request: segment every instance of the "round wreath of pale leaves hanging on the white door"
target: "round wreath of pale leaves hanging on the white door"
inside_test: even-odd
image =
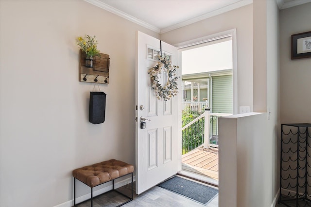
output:
[[[173,66],[165,55],[164,57],[158,55],[158,59],[158,64],[149,69],[148,74],[150,74],[152,88],[155,91],[157,99],[164,99],[164,101],[167,101],[178,93],[176,66]],[[162,71],[168,74],[168,80],[164,86],[162,86],[159,80]]]

